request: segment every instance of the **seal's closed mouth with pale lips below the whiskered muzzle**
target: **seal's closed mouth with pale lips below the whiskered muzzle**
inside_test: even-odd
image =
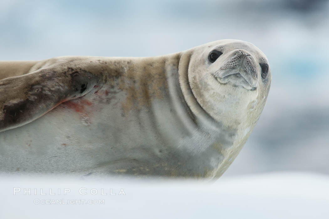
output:
[[[235,87],[241,86],[244,89],[253,91],[257,89],[257,86],[254,84],[254,81],[251,78],[246,78],[240,73],[229,74],[224,77],[215,76],[215,79],[221,84],[232,84]]]

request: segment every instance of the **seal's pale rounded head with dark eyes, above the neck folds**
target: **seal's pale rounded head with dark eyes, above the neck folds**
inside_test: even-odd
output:
[[[248,42],[218,40],[188,53],[187,81],[201,108],[226,126],[252,130],[271,83],[263,52]]]

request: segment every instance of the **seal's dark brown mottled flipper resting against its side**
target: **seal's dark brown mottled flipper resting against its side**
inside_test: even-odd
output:
[[[99,78],[61,63],[0,80],[0,132],[27,124],[64,101],[84,96]]]

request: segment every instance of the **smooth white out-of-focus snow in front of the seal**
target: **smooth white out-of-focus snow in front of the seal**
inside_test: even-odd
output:
[[[213,183],[1,175],[0,185],[0,218],[329,218],[329,177],[311,173],[226,177]],[[14,195],[14,188],[21,191]],[[31,188],[31,195],[24,195],[24,188]],[[64,195],[64,189],[70,192]],[[110,195],[110,189],[116,195]],[[118,194],[121,189],[125,195]],[[38,200],[104,200],[104,204]]]

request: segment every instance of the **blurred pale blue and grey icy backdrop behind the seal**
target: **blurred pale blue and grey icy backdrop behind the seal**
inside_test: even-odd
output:
[[[225,176],[329,174],[325,0],[0,0],[0,60],[156,56],[218,39],[259,47],[272,71],[263,114]]]

